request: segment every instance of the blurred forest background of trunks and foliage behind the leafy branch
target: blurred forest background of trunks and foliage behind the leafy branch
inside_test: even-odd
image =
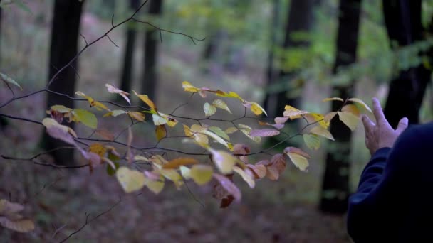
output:
[[[188,80],[197,87],[233,90],[263,104],[271,118],[281,116],[285,104],[326,114],[336,105],[321,102],[326,97],[358,97],[368,104],[378,97],[393,124],[402,115],[415,123],[431,121],[433,89],[427,83],[433,1],[385,2],[387,6],[376,0],[150,0],[138,19],[204,41],[127,23],[110,33],[111,41],[103,38],[80,55],[75,70],[63,72],[52,88],[109,100],[104,84],[110,83],[147,94],[160,110],[169,111],[187,101],[182,81]],[[77,45],[80,50],[85,39],[95,40],[141,3],[0,1],[0,72],[21,84],[20,94],[39,90],[75,56]],[[10,97],[6,85],[0,85],[0,104]],[[74,106],[71,99],[48,95],[52,104]],[[191,111],[202,112],[202,103],[194,99],[190,105],[181,114],[199,117]],[[75,104],[80,106],[85,104]],[[41,93],[1,107],[0,113],[41,121],[46,107],[46,93]],[[1,155],[28,158],[40,151],[41,126],[0,118]],[[285,129],[290,134],[300,127]],[[150,131],[135,126],[135,134],[142,134],[136,142],[151,143]],[[124,195],[105,170],[89,176],[86,169],[59,170],[0,158],[0,198],[26,205],[36,222],[29,234],[0,228],[0,242],[57,242],[83,225],[86,212],[98,215],[119,195],[121,205],[71,240],[350,242],[347,198],[370,155],[362,127],[350,133],[331,126],[331,132],[336,142],[310,151],[307,173],[290,168],[278,181],[261,181],[254,190],[241,185],[242,202],[226,209],[212,198],[212,185],[179,191],[167,187],[160,195],[143,190],[135,197]],[[263,146],[277,142],[268,139]],[[288,144],[303,146],[302,139]]]

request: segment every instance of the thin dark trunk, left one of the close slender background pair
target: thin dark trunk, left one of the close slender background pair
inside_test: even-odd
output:
[[[130,0],[130,9],[135,11],[140,6],[140,0]],[[134,48],[135,38],[137,36],[137,30],[133,26],[128,26],[126,31],[126,48],[123,59],[122,77],[120,77],[120,90],[130,92],[132,83],[133,73],[133,59],[134,59]]]

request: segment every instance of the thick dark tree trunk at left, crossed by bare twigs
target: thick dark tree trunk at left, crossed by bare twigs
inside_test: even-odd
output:
[[[51,48],[49,63],[49,80],[77,55],[80,17],[84,1],[56,0],[54,2],[53,26],[51,30]],[[49,90],[73,96],[75,91],[76,72],[78,63],[75,61],[70,67],[63,70],[54,80]],[[74,106],[73,100],[60,95],[48,93],[47,107],[54,104],[63,104],[66,107]],[[73,124],[68,124],[73,126]],[[45,134],[43,146],[47,150],[67,146],[63,142],[52,139]],[[73,151],[61,149],[53,153],[56,163],[73,163]]]

